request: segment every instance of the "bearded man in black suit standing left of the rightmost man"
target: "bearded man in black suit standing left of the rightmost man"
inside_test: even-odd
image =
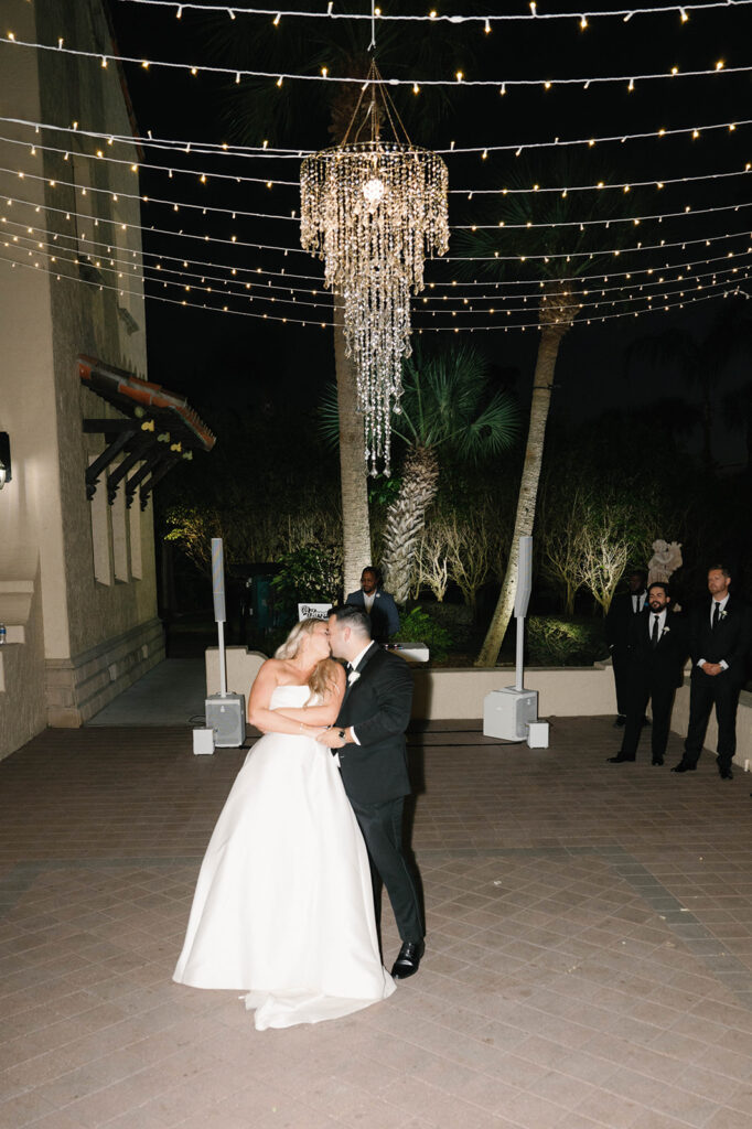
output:
[[[663,764],[676,686],[687,658],[687,631],[681,615],[671,612],[668,586],[656,580],[647,604],[629,623],[627,725],[624,739],[611,764],[635,761],[648,700],[653,703],[653,763]]]

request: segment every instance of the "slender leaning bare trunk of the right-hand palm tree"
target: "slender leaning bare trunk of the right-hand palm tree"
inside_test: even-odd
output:
[[[535,523],[535,504],[537,501],[537,483],[541,476],[541,464],[543,462],[543,445],[545,440],[545,425],[549,418],[549,406],[551,403],[551,387],[553,385],[553,370],[559,355],[561,339],[571,325],[570,314],[562,308],[559,317],[553,318],[552,312],[556,298],[560,298],[561,306],[571,301],[571,296],[556,294],[546,296],[541,303],[541,321],[545,318],[541,330],[541,340],[537,347],[537,359],[535,361],[535,375],[533,377],[533,401],[530,412],[530,430],[527,432],[527,447],[525,448],[525,463],[523,465],[522,481],[519,483],[519,495],[517,498],[517,514],[515,516],[515,530],[509,546],[509,559],[507,571],[501,585],[499,599],[491,618],[483,646],[475,659],[475,666],[496,666],[501,650],[501,644],[511,619],[517,594],[517,562],[519,559],[519,539],[527,537],[533,532]],[[543,303],[546,301],[546,306]],[[565,317],[561,315],[566,314]]]

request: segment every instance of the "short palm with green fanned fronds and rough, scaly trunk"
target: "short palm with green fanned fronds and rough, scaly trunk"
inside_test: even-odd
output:
[[[518,410],[508,393],[493,392],[486,358],[470,345],[425,356],[416,350],[403,362],[401,411],[392,435],[406,450],[396,496],[386,510],[382,569],[399,604],[410,594],[426,513],[439,485],[440,454],[464,461],[507,449],[518,431]],[[322,403],[323,431],[330,443],[340,434],[334,390]]]

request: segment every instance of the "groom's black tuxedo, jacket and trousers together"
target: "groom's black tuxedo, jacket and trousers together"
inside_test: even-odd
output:
[[[352,727],[359,744],[339,750],[342,782],[360,824],[374,877],[378,918],[386,886],[402,940],[418,942],[423,922],[416,884],[402,852],[402,809],[410,793],[404,733],[412,706],[412,674],[403,658],[371,644],[348,682],[336,725]]]

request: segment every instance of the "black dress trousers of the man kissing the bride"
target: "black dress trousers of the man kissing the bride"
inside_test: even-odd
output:
[[[376,921],[381,921],[382,883],[390,895],[402,940],[422,940],[426,933],[418,891],[402,851],[404,798],[384,804],[357,804],[350,799],[368,848]]]

